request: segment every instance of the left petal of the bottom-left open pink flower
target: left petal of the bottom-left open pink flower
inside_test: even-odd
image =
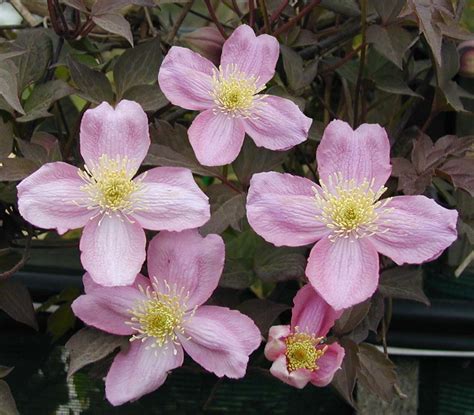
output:
[[[107,333],[130,335],[135,333],[130,325],[129,310],[146,299],[135,287],[103,287],[88,290],[72,303],[72,311],[84,323]]]

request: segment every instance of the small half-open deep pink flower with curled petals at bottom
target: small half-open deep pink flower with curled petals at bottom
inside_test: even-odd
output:
[[[308,382],[326,386],[345,355],[338,343],[324,344],[329,329],[342,312],[329,306],[311,285],[301,288],[293,301],[291,324],[273,326],[268,333],[265,356],[274,362],[270,372],[299,389]]]

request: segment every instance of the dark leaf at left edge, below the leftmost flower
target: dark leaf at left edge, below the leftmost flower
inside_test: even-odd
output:
[[[0,281],[0,309],[12,319],[38,330],[30,293],[20,283],[12,280]]]

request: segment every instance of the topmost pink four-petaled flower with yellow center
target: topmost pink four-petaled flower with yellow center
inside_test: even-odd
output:
[[[287,150],[306,140],[312,120],[290,100],[261,95],[280,53],[276,38],[255,36],[241,25],[222,48],[221,64],[173,46],[158,81],[174,105],[202,111],[188,130],[199,162],[219,166],[235,160],[245,133],[259,147]]]

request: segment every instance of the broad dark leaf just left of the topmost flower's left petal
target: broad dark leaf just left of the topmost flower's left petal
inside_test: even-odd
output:
[[[133,86],[156,83],[162,59],[158,38],[127,49],[114,66],[117,100]]]

